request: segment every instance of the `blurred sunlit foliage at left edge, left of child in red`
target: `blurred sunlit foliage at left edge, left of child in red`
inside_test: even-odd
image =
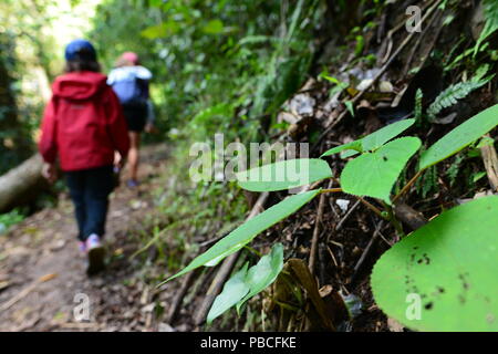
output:
[[[0,2],[0,174],[34,152],[49,83],[62,72],[61,42],[72,32],[59,31],[69,9],[70,0]]]

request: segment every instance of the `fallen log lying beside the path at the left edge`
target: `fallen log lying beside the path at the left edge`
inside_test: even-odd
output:
[[[43,160],[39,154],[0,176],[0,212],[31,201],[45,184],[41,175]]]

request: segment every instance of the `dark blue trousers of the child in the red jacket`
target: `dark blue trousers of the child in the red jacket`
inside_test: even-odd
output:
[[[65,173],[71,199],[74,204],[81,241],[96,233],[105,233],[108,195],[114,188],[113,166]]]

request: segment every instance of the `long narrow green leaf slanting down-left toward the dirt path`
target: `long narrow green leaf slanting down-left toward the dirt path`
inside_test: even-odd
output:
[[[177,274],[168,278],[166,281],[180,277],[196,268],[206,266],[208,263],[209,266],[215,266],[227,256],[237,252],[247,243],[252,241],[252,239],[261,231],[264,231],[269,227],[298,211],[303,205],[317,197],[320,194],[320,190],[321,189],[310,190],[291,196],[272,206],[268,210],[264,210],[255,218],[246,221],[229,235],[227,235],[225,238],[215,243],[206,252],[195,258],[185,269],[183,269]]]

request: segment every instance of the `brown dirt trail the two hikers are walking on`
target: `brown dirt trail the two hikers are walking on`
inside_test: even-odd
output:
[[[73,206],[66,194],[58,207],[43,209],[0,237],[0,331],[173,331],[155,323],[149,272],[137,258],[144,220],[156,212],[153,191],[160,187],[168,148],[143,149],[138,189],[125,186],[111,196],[105,272],[87,278],[77,249]],[[123,178],[122,178],[123,179]],[[156,268],[155,271],[152,268]],[[163,301],[173,292],[163,292]],[[87,321],[75,321],[82,301],[90,301]],[[175,329],[177,331],[186,329]]]

